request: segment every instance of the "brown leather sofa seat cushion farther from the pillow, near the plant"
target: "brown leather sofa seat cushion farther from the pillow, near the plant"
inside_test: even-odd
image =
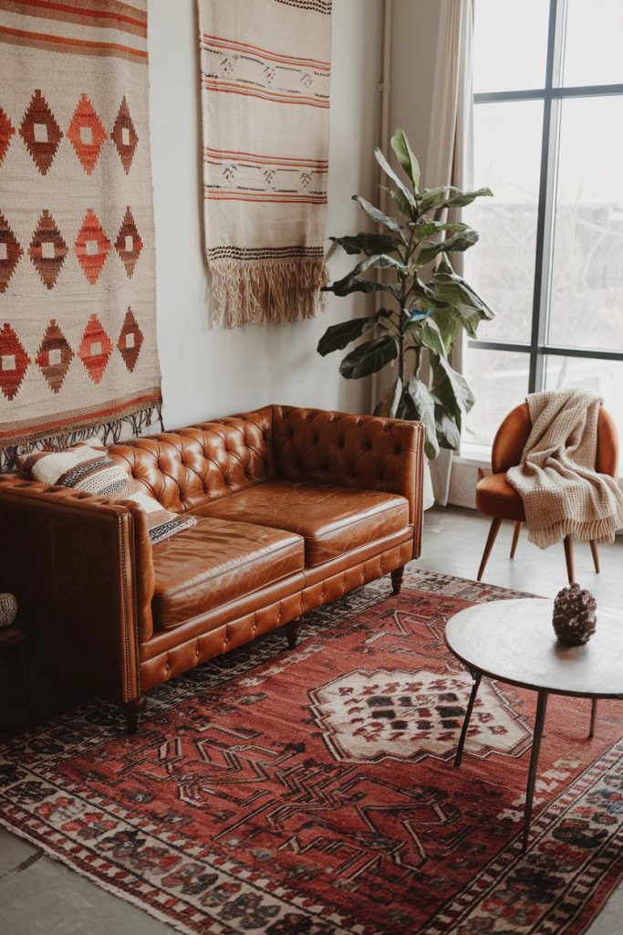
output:
[[[297,533],[304,537],[307,568],[409,525],[404,496],[315,482],[268,481],[212,500],[193,514]]]

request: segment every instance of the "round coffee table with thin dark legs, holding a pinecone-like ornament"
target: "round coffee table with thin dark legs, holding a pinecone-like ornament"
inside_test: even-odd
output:
[[[623,698],[623,616],[597,610],[597,630],[584,646],[562,646],[552,628],[553,601],[495,600],[455,614],[446,625],[446,645],[470,670],[474,685],[465,712],[455,767],[460,766],[467,730],[483,675],[538,692],[532,737],[523,849],[528,846],[536,769],[549,695],[592,698],[592,737],[598,698]]]

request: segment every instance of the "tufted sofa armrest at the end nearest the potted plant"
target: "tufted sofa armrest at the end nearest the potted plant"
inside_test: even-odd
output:
[[[424,427],[347,412],[274,406],[276,473],[289,481],[333,483],[401,494],[409,502],[414,555],[422,530]]]

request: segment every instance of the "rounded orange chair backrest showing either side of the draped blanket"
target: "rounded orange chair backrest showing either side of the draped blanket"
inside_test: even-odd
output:
[[[491,449],[491,468],[494,474],[505,474],[521,461],[531,433],[528,404],[522,403],[508,413],[498,429]],[[597,459],[595,469],[600,474],[618,476],[618,435],[616,424],[609,412],[600,407],[597,423]]]

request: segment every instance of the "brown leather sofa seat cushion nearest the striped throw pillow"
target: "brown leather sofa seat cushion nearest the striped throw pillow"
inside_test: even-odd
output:
[[[273,584],[304,566],[304,540],[261,525],[197,518],[197,525],[153,548],[155,629]]]

